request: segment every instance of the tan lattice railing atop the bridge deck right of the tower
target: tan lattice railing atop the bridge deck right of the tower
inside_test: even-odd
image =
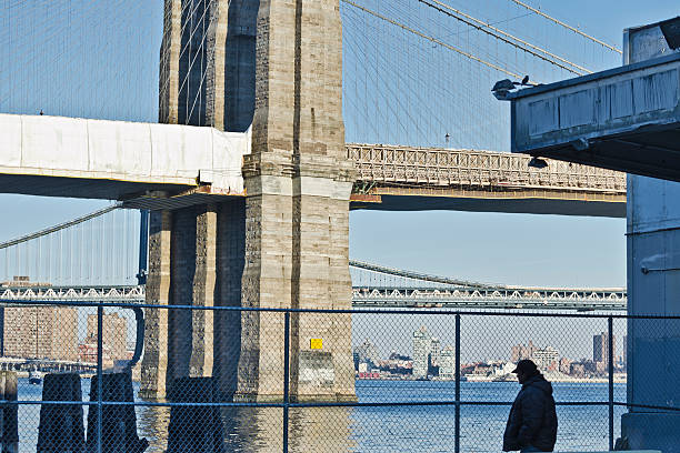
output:
[[[528,155],[357,143],[348,143],[347,153],[363,182],[626,195],[626,173],[554,160],[539,170],[528,165]]]

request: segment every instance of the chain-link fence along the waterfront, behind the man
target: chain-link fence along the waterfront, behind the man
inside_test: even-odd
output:
[[[36,301],[0,312],[3,452],[496,452],[521,359],[552,384],[556,451],[612,450],[631,406],[628,332],[680,325]]]

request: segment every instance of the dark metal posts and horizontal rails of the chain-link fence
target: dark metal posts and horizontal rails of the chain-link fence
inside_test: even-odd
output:
[[[281,432],[282,439],[282,451],[288,453],[289,451],[289,419],[290,410],[297,407],[409,407],[409,406],[451,406],[454,410],[454,449],[453,451],[459,453],[461,451],[460,439],[461,439],[461,414],[460,410],[462,406],[508,406],[512,404],[511,401],[469,401],[461,397],[461,324],[463,320],[471,319],[473,316],[483,318],[512,318],[512,319],[539,319],[539,318],[564,318],[570,319],[570,325],[577,320],[602,320],[607,321],[607,333],[608,333],[608,400],[607,401],[557,401],[558,406],[607,406],[609,410],[608,415],[608,437],[609,437],[609,450],[613,450],[614,443],[614,407],[647,407],[663,411],[680,411],[679,407],[674,406],[658,406],[658,405],[646,405],[634,404],[614,400],[614,386],[613,386],[613,363],[614,363],[614,351],[613,351],[613,321],[614,320],[650,320],[650,321],[678,321],[680,316],[638,316],[638,315],[624,315],[624,314],[554,314],[554,313],[536,313],[536,312],[521,312],[521,313],[497,313],[486,311],[470,311],[460,312],[452,310],[436,310],[428,312],[428,315],[447,316],[453,318],[454,321],[454,354],[456,354],[456,372],[454,372],[454,399],[453,400],[440,400],[440,401],[394,401],[394,402],[297,402],[290,397],[290,373],[291,368],[291,318],[299,316],[302,314],[311,314],[314,316],[319,315],[337,315],[337,314],[350,314],[350,315],[388,315],[388,316],[404,316],[404,315],[422,315],[422,311],[418,310],[327,310],[327,309],[274,309],[274,308],[243,308],[243,306],[194,306],[194,305],[157,305],[157,304],[130,304],[130,303],[104,303],[104,302],[79,302],[79,301],[43,301],[43,300],[24,300],[24,301],[11,301],[0,300],[2,303],[12,303],[19,305],[58,305],[58,306],[73,306],[73,308],[96,308],[98,313],[98,332],[97,332],[97,376],[99,383],[98,400],[97,401],[37,401],[37,400],[20,400],[20,401],[8,401],[1,400],[0,407],[8,405],[68,405],[78,404],[83,406],[90,406],[92,410],[97,410],[99,414],[98,430],[97,433],[99,439],[97,440],[97,451],[101,452],[101,415],[102,409],[106,406],[121,406],[121,405],[133,405],[136,407],[178,407],[178,406],[218,406],[218,407],[278,407],[282,410],[283,416],[283,429]],[[102,318],[104,309],[153,309],[153,310],[200,310],[200,311],[216,311],[216,312],[240,312],[240,313],[272,313],[283,315],[283,336],[282,336],[282,349],[283,349],[283,396],[281,401],[273,402],[238,402],[238,401],[224,401],[224,402],[200,402],[200,403],[186,403],[186,402],[156,402],[156,401],[141,401],[137,400],[133,402],[120,402],[120,401],[106,401],[102,400]],[[280,324],[277,323],[279,326]],[[138,340],[141,339],[138,336]],[[139,348],[139,345],[138,345]]]

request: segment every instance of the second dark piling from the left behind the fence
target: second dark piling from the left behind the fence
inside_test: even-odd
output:
[[[74,401],[76,404],[40,406],[38,453],[81,453],[84,445],[82,390],[78,374],[47,374],[42,384],[42,401]]]

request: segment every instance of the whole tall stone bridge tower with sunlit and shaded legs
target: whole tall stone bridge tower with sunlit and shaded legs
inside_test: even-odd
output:
[[[339,0],[166,0],[160,121],[246,131],[247,197],[151,215],[147,302],[349,309]],[[148,310],[142,391],[280,400],[283,315]],[[348,314],[291,315],[291,396],[354,399]],[[311,349],[322,339],[322,349]]]

